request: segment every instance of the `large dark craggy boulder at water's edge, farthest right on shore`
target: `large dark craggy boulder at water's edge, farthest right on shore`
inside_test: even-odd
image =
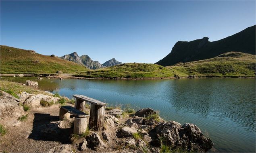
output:
[[[151,131],[157,135],[159,142],[188,152],[206,152],[212,148],[210,138],[204,137],[200,129],[191,123],[183,126],[175,121],[160,122]]]

